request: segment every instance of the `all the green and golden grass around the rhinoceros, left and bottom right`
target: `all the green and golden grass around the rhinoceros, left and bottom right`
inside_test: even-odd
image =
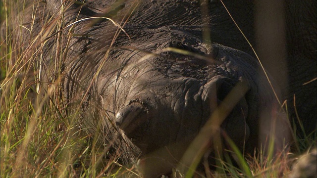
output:
[[[32,12],[31,19],[36,19],[41,13],[36,7],[38,4],[34,2],[33,5],[36,11]],[[53,77],[50,84],[39,83],[40,73],[43,72],[41,69],[35,70],[41,62],[39,51],[54,36],[59,19],[41,17],[42,23],[47,24],[43,30],[45,33],[40,33],[42,36],[36,36],[30,45],[26,45],[21,40],[21,29],[28,28],[32,32],[29,28],[32,25],[27,27],[22,22],[22,17],[29,13],[24,9],[24,3],[1,0],[0,8],[1,24],[6,22],[4,27],[1,26],[0,41],[0,177],[141,176],[138,164],[125,167],[115,158],[105,161],[107,150],[97,147],[92,136],[77,132],[74,122],[76,115],[66,113],[66,101],[59,97],[58,77]],[[20,15],[24,15],[16,16],[16,9],[19,9]],[[58,38],[66,37],[57,34]],[[62,52],[63,44],[59,42],[56,41],[56,51]],[[60,60],[55,58],[55,64]],[[56,65],[56,76],[60,67]],[[51,87],[46,90],[44,85]],[[267,150],[260,150],[253,157],[244,157],[230,138],[227,141],[235,148],[238,166],[233,166],[229,155],[224,155],[222,159],[216,158],[217,172],[207,169],[210,171],[208,177],[287,177],[296,156],[308,147],[316,147],[316,132],[298,138],[296,153],[285,149],[271,157],[264,156]],[[201,157],[204,160],[204,155]],[[174,174],[199,177],[199,173],[190,171],[183,175],[174,170]]]

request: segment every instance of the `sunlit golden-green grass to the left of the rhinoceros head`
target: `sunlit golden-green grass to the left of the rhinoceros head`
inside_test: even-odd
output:
[[[23,2],[1,0],[0,177],[116,177],[122,174],[129,177],[137,174],[119,165],[115,158],[104,162],[107,150],[98,148],[96,141],[89,140],[89,135],[78,132],[75,115],[66,114],[66,102],[59,97],[58,77],[52,78],[50,84],[38,82],[40,72],[44,72],[38,67],[42,60],[39,51],[49,40],[56,36],[61,38],[55,33],[59,19],[43,18],[42,23],[49,25],[35,34],[33,41],[23,44],[21,39],[27,37],[21,34],[21,29],[29,30],[31,35],[33,24],[24,24],[22,17],[31,12],[30,19],[38,20],[36,15],[41,11],[34,2],[34,8],[22,9],[21,16],[17,17],[13,11],[17,5]],[[56,41],[56,51],[62,46],[58,43],[61,41]],[[56,65],[57,72],[59,67]]]

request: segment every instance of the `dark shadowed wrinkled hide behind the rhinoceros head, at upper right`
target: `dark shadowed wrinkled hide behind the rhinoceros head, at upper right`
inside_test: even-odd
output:
[[[89,4],[104,10],[113,1],[93,1]],[[282,101],[287,100],[291,122],[294,120],[299,126],[294,108],[295,95],[298,117],[303,122],[306,134],[316,130],[317,1],[223,0],[223,2],[255,47],[264,68],[281,89]],[[153,0],[143,4],[138,9],[142,13],[134,14],[129,22],[150,28],[164,25],[190,26],[192,30],[196,27],[199,31],[202,25],[206,25],[210,27],[212,42],[242,50],[255,57],[252,48],[241,35],[220,0],[211,0],[209,5],[203,5],[207,6],[209,11],[209,20],[205,21],[202,20],[202,9],[197,1]],[[129,3],[126,3],[125,8],[128,6]],[[315,81],[310,82],[314,79]]]

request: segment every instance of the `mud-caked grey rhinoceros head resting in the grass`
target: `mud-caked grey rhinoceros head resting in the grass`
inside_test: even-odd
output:
[[[80,1],[66,1],[63,6],[60,0],[46,2],[40,6],[45,6],[44,16],[63,18],[62,30],[46,39],[42,49],[42,83],[53,80],[54,60],[61,59],[62,95],[68,112],[78,117],[82,130],[98,134],[101,145],[120,152],[121,163],[164,152],[172,159],[156,154],[150,162],[158,163],[157,170],[146,174],[167,173],[206,123],[215,126],[210,133],[230,137],[241,151],[253,152],[271,132],[279,106],[264,70],[249,54],[203,39],[204,28],[190,25],[201,18],[196,15],[198,2],[162,1],[165,10],[169,3],[197,9],[187,11],[192,16],[179,23],[166,24],[176,18],[174,14],[162,24],[145,26],[142,20],[148,19],[142,9],[150,4],[127,1],[125,7],[131,8],[121,11],[122,18],[128,19],[121,27],[111,19],[121,7],[110,6],[111,0],[109,7],[114,10],[106,14]],[[52,28],[35,22],[31,38],[45,35],[42,28]],[[60,38],[59,33],[65,36]],[[61,52],[55,50],[57,39],[65,42]],[[286,128],[279,128],[277,135],[284,137]],[[212,140],[211,134],[204,144],[213,148]],[[230,148],[225,139],[222,142]],[[162,160],[168,164],[161,167]]]

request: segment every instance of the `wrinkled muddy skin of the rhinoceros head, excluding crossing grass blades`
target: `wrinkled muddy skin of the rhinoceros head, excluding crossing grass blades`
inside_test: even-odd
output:
[[[58,15],[59,1],[47,0],[49,12],[45,10],[44,14]],[[228,4],[228,7],[252,7],[248,3]],[[72,5],[64,14],[63,25],[91,16],[111,17],[119,22],[135,5],[126,1],[112,8],[111,4],[112,0],[88,1],[94,8]],[[105,7],[114,10],[104,9],[106,13],[101,14],[95,9]],[[131,40],[120,32],[111,47],[118,28],[108,20],[85,20],[74,25],[72,33],[84,35],[70,38],[62,61],[63,96],[69,103],[68,112],[74,113],[80,107],[80,128],[89,134],[97,134],[97,128],[102,128],[100,143],[112,144],[114,153],[120,149],[122,163],[131,163],[174,143],[183,147],[168,153],[179,160],[217,105],[239,82],[247,92],[222,123],[222,131],[240,149],[245,145],[249,152],[268,135],[270,114],[275,114],[278,106],[263,71],[255,58],[240,51],[251,54],[222,5],[212,1],[207,7],[210,22],[202,20],[197,1],[143,1],[123,27]],[[233,11],[232,15],[243,22],[252,13],[252,10],[241,10]],[[246,23],[250,23],[248,20]],[[212,41],[223,45],[209,45],[202,40],[204,25],[211,26]],[[41,30],[40,24],[35,34],[37,30]],[[68,30],[63,33],[67,34]],[[252,25],[246,25],[243,30],[249,31],[247,35],[254,39]],[[50,64],[53,46],[54,41],[50,40],[47,51],[44,50],[43,83],[50,82],[53,76],[53,64]],[[184,49],[205,58],[161,52],[166,47]],[[151,52],[159,55],[147,56]],[[312,101],[314,105],[314,98]],[[283,129],[279,128],[278,136],[285,136]],[[152,172],[149,177],[170,169]]]

